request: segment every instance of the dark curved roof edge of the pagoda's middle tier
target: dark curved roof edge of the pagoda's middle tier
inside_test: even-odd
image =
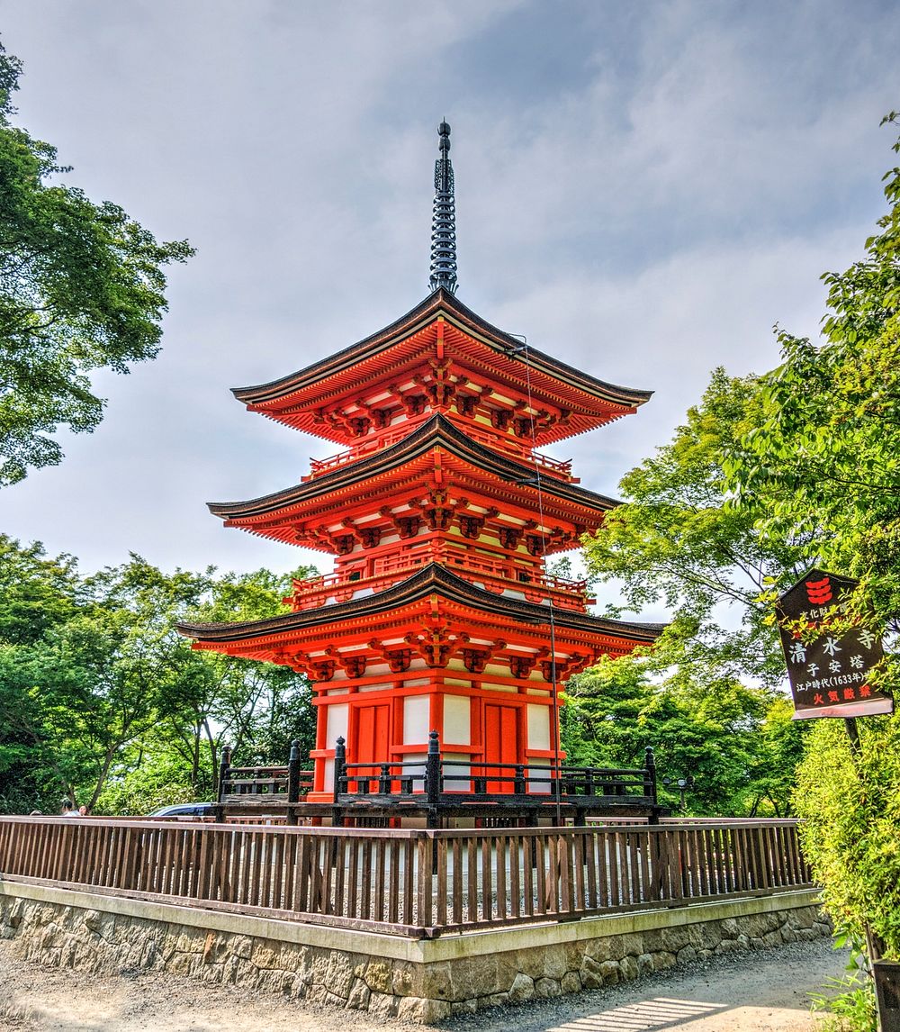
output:
[[[249,521],[254,518],[272,516],[274,513],[292,508],[308,507],[310,502],[320,499],[324,495],[357,488],[361,483],[371,482],[372,478],[379,474],[390,473],[427,455],[436,446],[496,477],[508,490],[516,489],[526,497],[537,491],[533,465],[500,455],[485,445],[472,441],[451,420],[438,414],[396,444],[293,487],[246,502],[210,502],[207,505],[213,515],[225,520],[239,520],[241,524],[247,523],[246,528],[252,530],[255,527]],[[597,494],[551,475],[540,477],[540,489],[545,495],[552,495],[562,503],[592,512],[608,512],[619,505],[614,498]]]

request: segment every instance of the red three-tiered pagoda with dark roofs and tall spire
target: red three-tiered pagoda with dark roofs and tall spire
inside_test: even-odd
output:
[[[332,797],[338,740],[347,762],[408,765],[424,763],[436,731],[458,770],[549,767],[561,759],[561,684],[662,630],[591,615],[586,582],[548,569],[616,503],[539,450],[635,412],[649,392],[572,368],[458,300],[449,131],[442,122],[425,300],[328,358],[233,392],[340,450],[298,484],[210,511],[333,555],[333,572],[295,581],[284,615],[179,625],[195,648],[309,678],[310,802]]]

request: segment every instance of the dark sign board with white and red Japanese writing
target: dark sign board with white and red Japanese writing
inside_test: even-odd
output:
[[[810,570],[778,599],[778,630],[794,695],[794,719],[819,716],[872,716],[892,713],[894,700],[869,684],[869,673],[881,660],[881,639],[868,627],[836,631],[833,622],[859,581]],[[785,622],[805,620],[818,628],[803,641]]]

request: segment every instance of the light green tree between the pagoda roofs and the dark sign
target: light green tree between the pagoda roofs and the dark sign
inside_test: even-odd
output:
[[[723,475],[728,449],[756,425],[758,396],[756,377],[715,369],[671,443],[623,478],[624,504],[586,542],[592,576],[621,585],[625,605],[610,615],[660,602],[674,610],[654,663],[693,669],[696,680],[785,676],[760,596],[771,577],[800,575],[802,553],[763,539],[753,508],[727,505]]]

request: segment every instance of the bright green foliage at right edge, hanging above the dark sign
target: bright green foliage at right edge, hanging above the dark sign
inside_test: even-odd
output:
[[[900,168],[885,193],[891,209],[866,258],[823,278],[823,342],[779,332],[784,361],[761,379],[757,425],[725,469],[735,508],[752,499],[767,541],[797,542],[807,565],[861,578],[876,614],[897,628]]]

